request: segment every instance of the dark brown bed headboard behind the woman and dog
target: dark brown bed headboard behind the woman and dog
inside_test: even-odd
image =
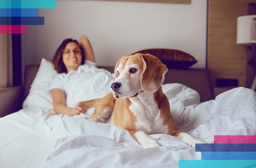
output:
[[[39,65],[28,65],[25,68],[24,74],[24,98],[29,94],[30,85],[32,84]],[[110,72],[114,72],[114,67],[103,67]],[[200,101],[212,100],[213,88],[210,85],[209,71],[204,68],[189,68],[189,69],[169,69],[165,74],[164,83],[182,83],[200,94]]]

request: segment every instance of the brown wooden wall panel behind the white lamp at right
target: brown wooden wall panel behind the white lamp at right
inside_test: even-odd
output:
[[[236,44],[236,20],[247,15],[256,0],[208,0],[207,68],[212,85],[221,79],[238,79],[246,86],[246,46]]]

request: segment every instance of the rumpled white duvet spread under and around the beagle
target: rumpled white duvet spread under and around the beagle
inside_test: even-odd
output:
[[[167,84],[163,91],[169,98],[175,96],[169,102],[180,121],[178,127],[196,138],[213,143],[214,135],[256,134],[256,94],[251,89],[232,89],[201,104],[193,104],[199,97],[184,85]],[[168,94],[172,91],[177,92]],[[111,124],[66,115],[55,120],[55,125],[46,124],[49,137],[57,142],[43,167],[177,168],[180,159],[201,158],[194,148],[170,135],[151,135],[162,147],[145,149],[126,130]]]

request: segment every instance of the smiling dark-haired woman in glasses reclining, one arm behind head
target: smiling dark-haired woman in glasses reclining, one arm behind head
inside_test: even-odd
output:
[[[82,107],[67,107],[66,97],[68,89],[70,88],[69,85],[71,85],[72,80],[76,80],[76,71],[79,66],[84,63],[96,66],[89,40],[84,35],[81,36],[78,41],[65,39],[56,50],[52,62],[55,70],[59,73],[50,86],[55,113],[70,116],[79,115],[81,113],[85,114],[86,110]]]

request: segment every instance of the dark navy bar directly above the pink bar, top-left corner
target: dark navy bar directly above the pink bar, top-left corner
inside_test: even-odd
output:
[[[44,17],[0,17],[0,25],[44,25]]]

